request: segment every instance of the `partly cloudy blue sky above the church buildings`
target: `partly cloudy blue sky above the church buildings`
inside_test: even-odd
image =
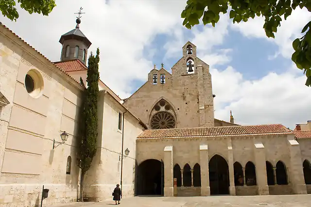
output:
[[[181,12],[186,0],[56,0],[49,16],[28,14],[0,22],[52,62],[60,60],[60,36],[76,26],[83,7],[80,30],[91,41],[88,50],[100,48],[100,77],[121,98],[133,94],[153,65],[171,71],[182,57],[187,41],[209,64],[215,118],[236,124],[295,124],[311,120],[311,87],[291,61],[292,42],[300,38],[311,13],[297,7],[281,22],[276,38],[265,35],[262,17],[232,23],[228,13],[216,27],[203,24],[188,30]]]

